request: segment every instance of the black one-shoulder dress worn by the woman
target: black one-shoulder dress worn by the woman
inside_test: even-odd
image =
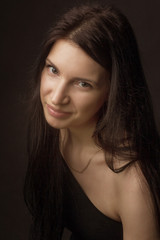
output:
[[[67,165],[63,221],[64,227],[72,232],[70,240],[123,239],[122,224],[105,216],[93,205]]]

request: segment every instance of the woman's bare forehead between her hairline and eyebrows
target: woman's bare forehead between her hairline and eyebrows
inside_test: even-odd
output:
[[[62,72],[69,71],[70,74],[89,75],[94,78],[107,73],[83,49],[69,40],[58,40],[47,58]]]

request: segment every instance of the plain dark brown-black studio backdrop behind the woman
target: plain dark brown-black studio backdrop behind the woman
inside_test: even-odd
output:
[[[30,217],[22,195],[27,166],[24,96],[31,66],[51,22],[85,0],[1,1],[0,239],[27,240]],[[95,2],[95,1],[90,1]],[[111,0],[128,17],[160,122],[160,1]]]

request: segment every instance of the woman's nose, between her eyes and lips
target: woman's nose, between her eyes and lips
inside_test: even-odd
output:
[[[67,86],[64,83],[56,85],[52,92],[51,102],[54,105],[68,104],[70,98],[68,96]]]

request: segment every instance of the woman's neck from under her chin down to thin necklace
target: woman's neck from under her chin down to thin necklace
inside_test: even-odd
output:
[[[68,166],[77,173],[83,173],[101,148],[95,144],[95,125],[87,128],[60,130],[61,152]],[[97,156],[97,155],[96,155]]]

